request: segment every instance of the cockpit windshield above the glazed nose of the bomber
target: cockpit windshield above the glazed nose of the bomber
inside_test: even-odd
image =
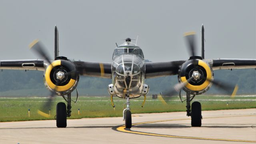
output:
[[[113,58],[119,54],[124,53],[136,54],[144,58],[142,50],[140,48],[116,48],[113,54]]]

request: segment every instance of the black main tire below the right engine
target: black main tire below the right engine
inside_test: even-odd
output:
[[[200,102],[193,102],[191,106],[191,126],[201,127],[202,125],[202,110]]]

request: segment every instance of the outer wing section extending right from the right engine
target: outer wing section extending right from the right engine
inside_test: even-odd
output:
[[[213,70],[230,69],[230,68],[256,68],[256,60],[246,59],[213,59],[207,60]]]

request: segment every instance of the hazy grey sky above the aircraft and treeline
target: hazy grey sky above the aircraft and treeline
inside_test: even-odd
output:
[[[111,62],[116,46],[136,39],[153,62],[186,60],[183,33],[205,27],[206,58],[256,58],[256,0],[1,0],[0,60],[34,59],[39,38],[54,56]]]

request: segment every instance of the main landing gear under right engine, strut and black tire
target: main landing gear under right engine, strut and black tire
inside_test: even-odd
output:
[[[202,125],[202,110],[200,102],[193,102],[190,109],[190,102],[193,100],[194,96],[190,97],[190,94],[186,94],[187,102],[187,116],[191,116],[191,126],[201,127]]]

